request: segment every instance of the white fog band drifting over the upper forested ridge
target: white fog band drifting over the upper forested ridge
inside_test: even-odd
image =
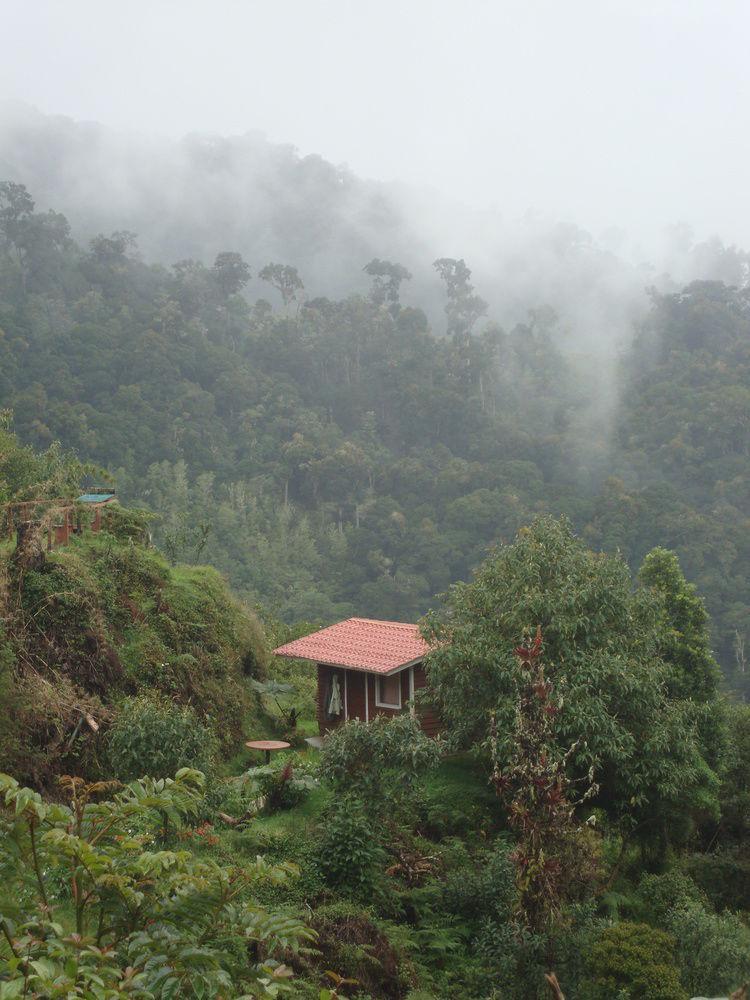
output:
[[[509,218],[427,187],[357,177],[258,132],[173,140],[7,102],[0,176],[24,183],[39,208],[63,212],[81,240],[126,229],[145,260],[165,265],[222,250],[241,252],[254,275],[269,261],[289,263],[308,297],[362,291],[368,260],[399,261],[413,274],[404,300],[437,331],[443,293],[431,265],[441,256],[465,258],[490,319],[511,325],[551,306],[564,342],[607,353],[630,336],[648,286],[747,280],[744,252],[718,238],[696,244],[678,220],[647,253],[625,228],[595,239],[574,220],[523,206]],[[269,289],[254,279],[247,294]]]

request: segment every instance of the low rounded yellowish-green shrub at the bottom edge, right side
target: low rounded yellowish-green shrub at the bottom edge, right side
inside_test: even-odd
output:
[[[687,1000],[674,964],[675,940],[648,924],[608,927],[593,945],[585,1000]]]

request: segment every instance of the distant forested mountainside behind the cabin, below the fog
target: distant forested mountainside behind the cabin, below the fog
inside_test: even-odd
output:
[[[747,691],[746,288],[652,292],[606,367],[541,300],[483,319],[460,260],[436,262],[433,330],[402,304],[410,260],[358,260],[369,292],[305,298],[306,275],[231,247],[166,267],[127,232],[80,245],[12,183],[0,238],[0,404],[24,441],[108,468],[174,559],[287,621],[414,619],[493,542],[566,513],[631,567],[677,551]],[[273,305],[243,295],[250,273]]]

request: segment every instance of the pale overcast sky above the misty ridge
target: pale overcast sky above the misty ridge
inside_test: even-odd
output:
[[[744,0],[5,0],[0,96],[750,246]]]

